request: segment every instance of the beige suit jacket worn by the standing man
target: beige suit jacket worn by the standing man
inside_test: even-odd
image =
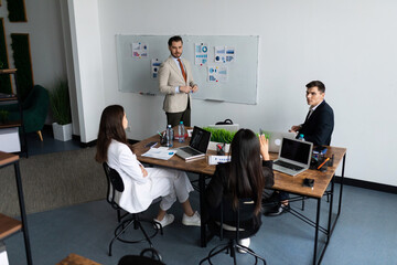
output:
[[[175,93],[176,86],[195,85],[190,63],[184,59],[181,59],[181,61],[185,67],[186,82],[171,55],[160,65],[159,68],[159,87],[160,92],[165,94],[163,109],[167,113],[184,112],[187,107],[187,97],[191,99],[190,93]],[[192,99],[190,103],[192,107]]]

